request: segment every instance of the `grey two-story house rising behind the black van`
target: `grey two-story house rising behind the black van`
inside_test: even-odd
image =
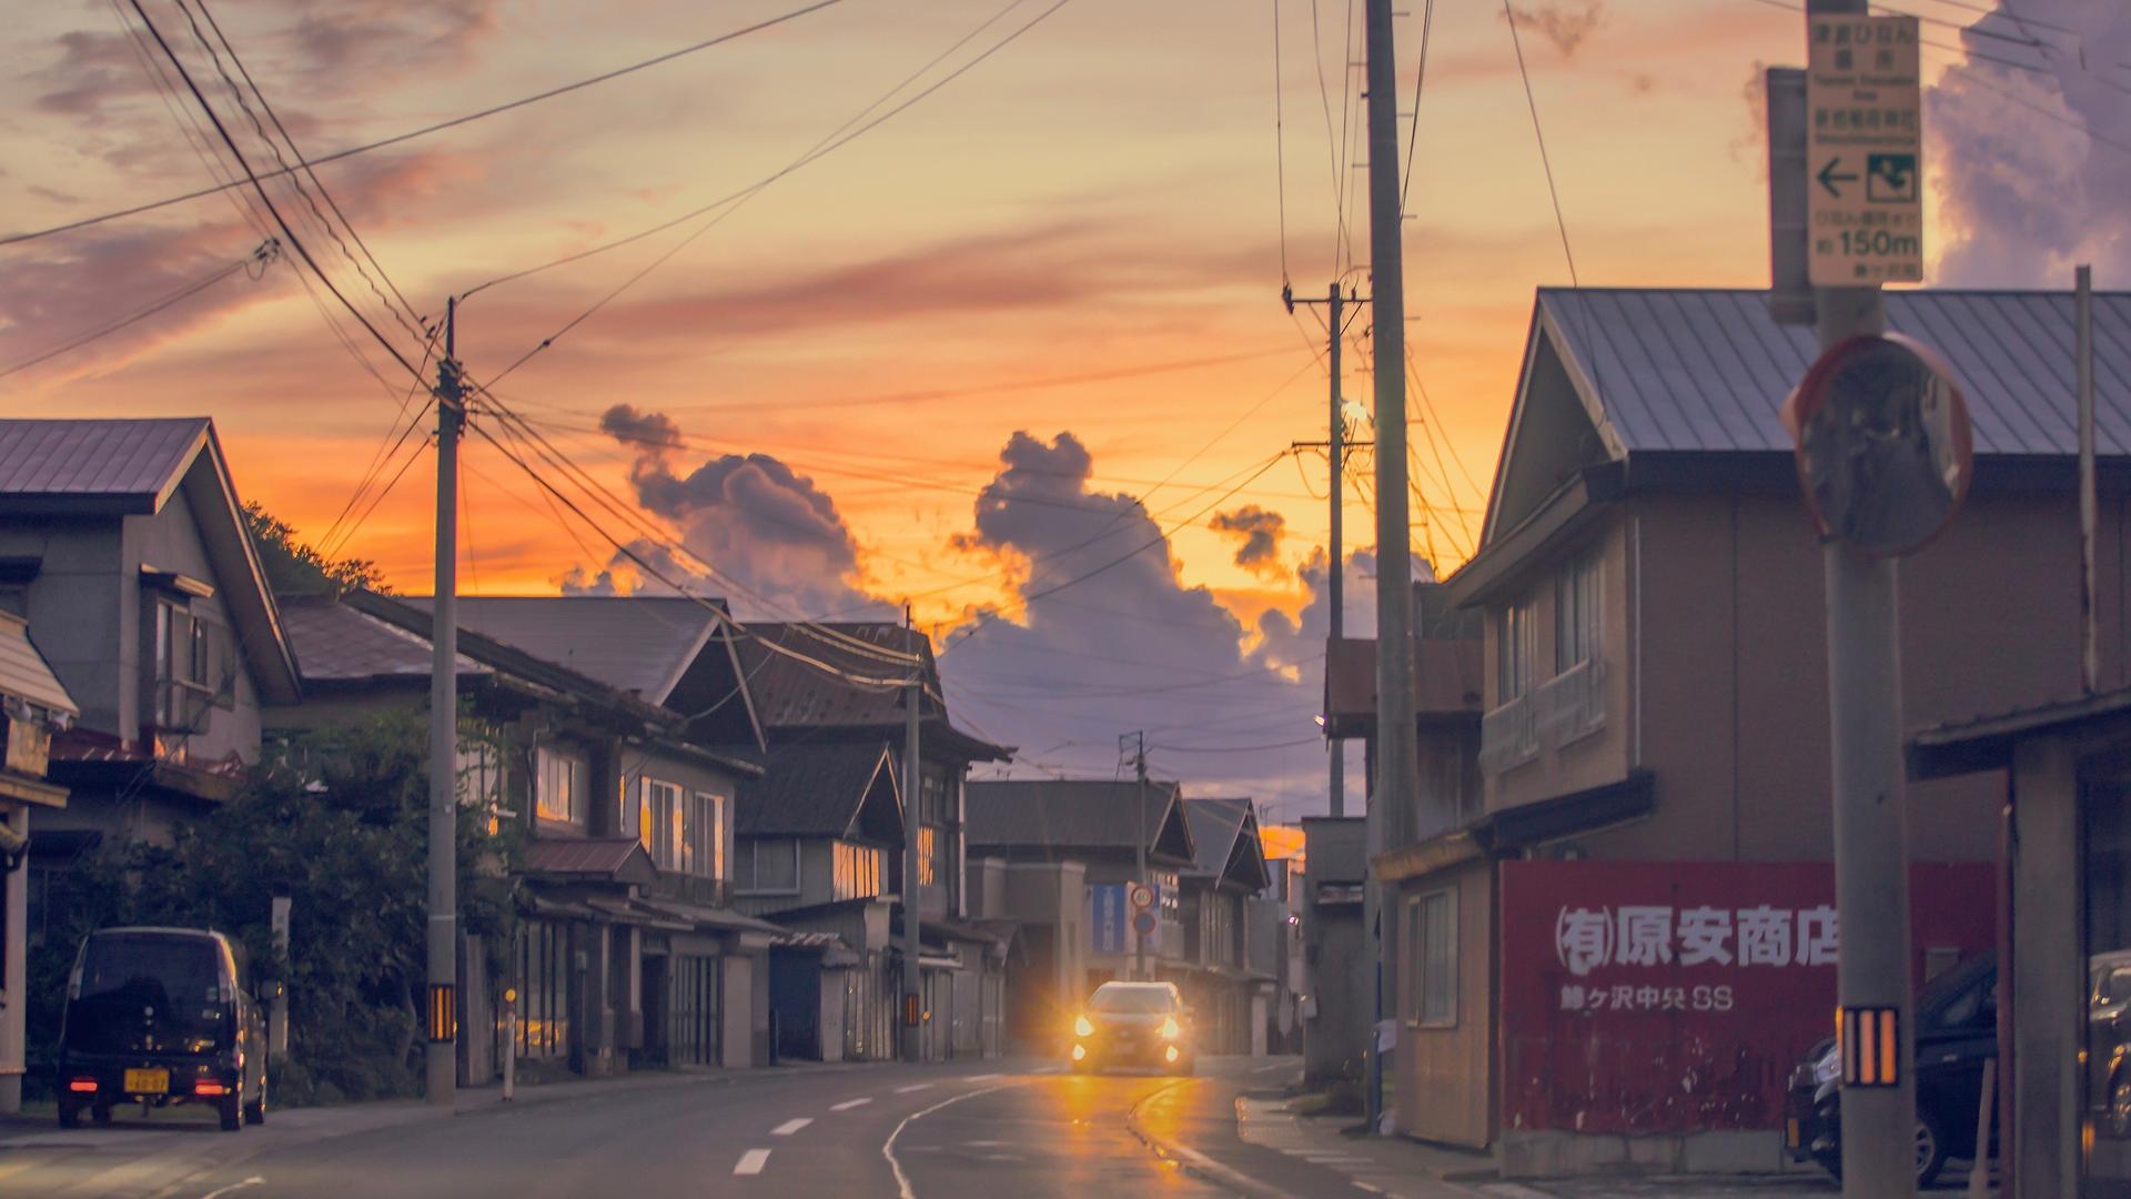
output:
[[[68,802],[32,836],[36,937],[77,856],[226,800],[298,678],[205,416],[0,420],[0,610],[81,706],[49,751]]]

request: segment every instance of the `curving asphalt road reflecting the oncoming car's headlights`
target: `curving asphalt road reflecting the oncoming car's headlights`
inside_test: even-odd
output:
[[[277,1112],[241,1135],[121,1118],[0,1139],[0,1195],[1366,1199],[1334,1169],[1238,1137],[1236,1099],[1296,1069],[1208,1058],[1200,1077],[1174,1080],[1029,1060],[863,1065],[622,1084],[452,1118]]]

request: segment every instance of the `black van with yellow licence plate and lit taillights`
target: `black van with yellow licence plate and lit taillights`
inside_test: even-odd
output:
[[[60,1026],[60,1126],[117,1103],[211,1103],[222,1131],[266,1120],[266,1022],[239,947],[198,928],[100,928],[75,956]]]

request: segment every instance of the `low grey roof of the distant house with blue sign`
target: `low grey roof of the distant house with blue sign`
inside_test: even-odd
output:
[[[963,796],[972,849],[1134,853],[1144,843],[1174,866],[1198,858],[1176,783],[1149,783],[1144,809],[1138,783],[1110,779],[972,781]]]

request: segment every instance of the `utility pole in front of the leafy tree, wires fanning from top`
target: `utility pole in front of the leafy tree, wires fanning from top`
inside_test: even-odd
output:
[[[428,642],[428,1103],[458,1099],[458,299],[437,358],[437,597]]]

